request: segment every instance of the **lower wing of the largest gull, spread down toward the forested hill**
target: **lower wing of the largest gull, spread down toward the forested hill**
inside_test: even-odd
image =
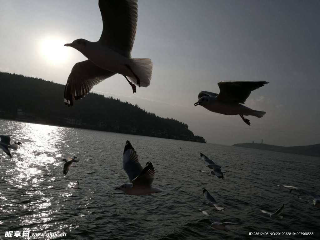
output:
[[[99,68],[92,61],[85,60],[73,66],[64,89],[64,102],[73,106],[75,100],[82,99],[92,87],[116,73]]]

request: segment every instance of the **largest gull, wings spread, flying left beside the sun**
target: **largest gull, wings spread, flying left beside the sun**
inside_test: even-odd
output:
[[[88,60],[73,66],[64,90],[64,102],[73,106],[92,87],[104,79],[121,74],[136,92],[148,87],[152,75],[152,61],[148,58],[131,58],[138,20],[137,0],[99,0],[102,16],[102,34],[97,42],[76,39],[70,46]],[[129,79],[134,83],[130,82]]]

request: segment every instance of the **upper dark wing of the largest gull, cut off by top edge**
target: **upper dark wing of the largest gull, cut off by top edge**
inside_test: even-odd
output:
[[[137,0],[99,0],[103,30],[99,43],[129,57],[136,35]]]

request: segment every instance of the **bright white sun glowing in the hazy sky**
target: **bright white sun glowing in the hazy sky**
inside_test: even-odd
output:
[[[68,50],[64,44],[62,39],[57,37],[44,38],[41,41],[41,53],[52,63],[62,63],[68,58]]]

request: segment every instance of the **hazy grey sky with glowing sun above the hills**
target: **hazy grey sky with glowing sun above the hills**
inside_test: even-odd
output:
[[[133,94],[116,75],[92,91],[185,122],[210,143],[320,143],[319,23],[318,0],[139,0],[131,55],[152,59],[150,86]],[[0,71],[66,84],[86,58],[63,44],[101,31],[98,0],[0,0]],[[193,106],[220,81],[268,81],[244,104],[266,115],[248,126]]]

